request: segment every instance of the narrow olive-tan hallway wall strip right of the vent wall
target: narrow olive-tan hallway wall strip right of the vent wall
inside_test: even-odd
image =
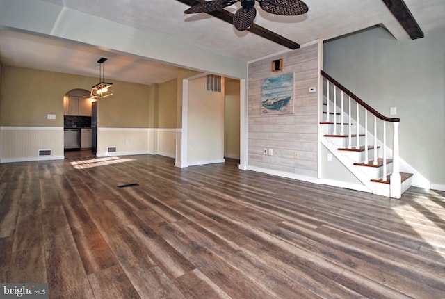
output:
[[[224,156],[239,159],[240,82],[225,79]]]

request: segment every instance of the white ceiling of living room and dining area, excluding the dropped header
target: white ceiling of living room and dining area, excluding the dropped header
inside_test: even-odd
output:
[[[218,54],[250,61],[286,50],[248,31],[207,14],[185,15],[189,6],[176,0],[29,0],[52,3],[78,10],[92,17],[143,31],[161,33],[184,40]],[[255,23],[303,45],[314,40],[330,40],[341,35],[382,24],[398,40],[409,39],[382,0],[305,0],[309,12],[300,16],[277,16],[257,5]],[[422,31],[445,29],[444,0],[405,0]],[[226,8],[234,13],[239,3]],[[134,83],[162,83],[177,76],[177,67],[149,58],[80,45],[69,40],[0,30],[0,60],[3,65],[31,67],[84,76],[99,76],[100,57],[106,79]]]

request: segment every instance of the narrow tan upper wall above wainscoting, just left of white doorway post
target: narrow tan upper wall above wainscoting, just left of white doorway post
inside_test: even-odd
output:
[[[159,128],[177,127],[177,79],[159,84]]]

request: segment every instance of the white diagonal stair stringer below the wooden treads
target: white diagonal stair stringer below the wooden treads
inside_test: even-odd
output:
[[[367,192],[382,196],[390,196],[389,184],[373,183],[369,176],[361,170],[363,166],[354,165],[357,161],[350,159],[346,152],[340,151],[337,145],[331,143],[325,136],[322,136],[321,143],[346,167],[346,169],[350,171],[350,173],[357,177],[357,179],[368,189]]]

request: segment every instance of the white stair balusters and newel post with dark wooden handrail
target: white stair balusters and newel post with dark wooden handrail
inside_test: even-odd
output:
[[[400,198],[401,197],[401,174],[400,174],[400,158],[398,156],[399,154],[399,143],[398,143],[398,124],[400,122],[400,118],[388,118],[380,113],[378,111],[375,111],[374,108],[366,104],[362,99],[359,99],[356,95],[353,94],[353,92],[350,92],[347,88],[342,86],[339,82],[337,82],[335,79],[333,79],[331,76],[321,71],[321,75],[324,77],[326,81],[326,93],[325,97],[327,99],[326,104],[326,118],[325,122],[333,124],[333,134],[337,134],[337,110],[340,110],[340,122],[341,122],[341,135],[344,135],[344,120],[343,115],[346,114],[344,102],[343,102],[343,94],[348,95],[348,149],[352,149],[352,131],[353,131],[353,120],[355,120],[355,138],[356,138],[356,144],[355,149],[360,149],[360,127],[364,128],[364,163],[370,163],[369,161],[369,149],[373,149],[373,165],[378,165],[378,158],[382,158],[382,180],[387,181],[387,123],[393,124],[393,136],[394,140],[392,142],[392,173],[391,173],[391,197]],[[333,86],[333,88],[331,88]],[[331,92],[332,91],[332,95]],[[339,106],[337,106],[337,90],[338,92],[341,92],[341,103]],[[333,99],[332,103],[331,99]],[[332,108],[330,108],[330,104],[332,104]],[[355,115],[351,115],[351,112],[353,112],[352,107],[355,106]],[[333,114],[331,114],[331,110]],[[361,120],[360,113],[364,115],[364,120]],[[368,114],[371,113],[374,117],[373,119],[373,140],[369,136],[368,131]],[[331,120],[332,115],[332,120]],[[380,125],[379,125],[380,124]],[[381,131],[378,131],[378,127],[381,128]],[[379,138],[381,136],[381,138]],[[372,147],[369,146],[369,140],[372,141],[373,145]],[[378,140],[381,140],[382,143],[382,152],[379,155],[378,151]]]

